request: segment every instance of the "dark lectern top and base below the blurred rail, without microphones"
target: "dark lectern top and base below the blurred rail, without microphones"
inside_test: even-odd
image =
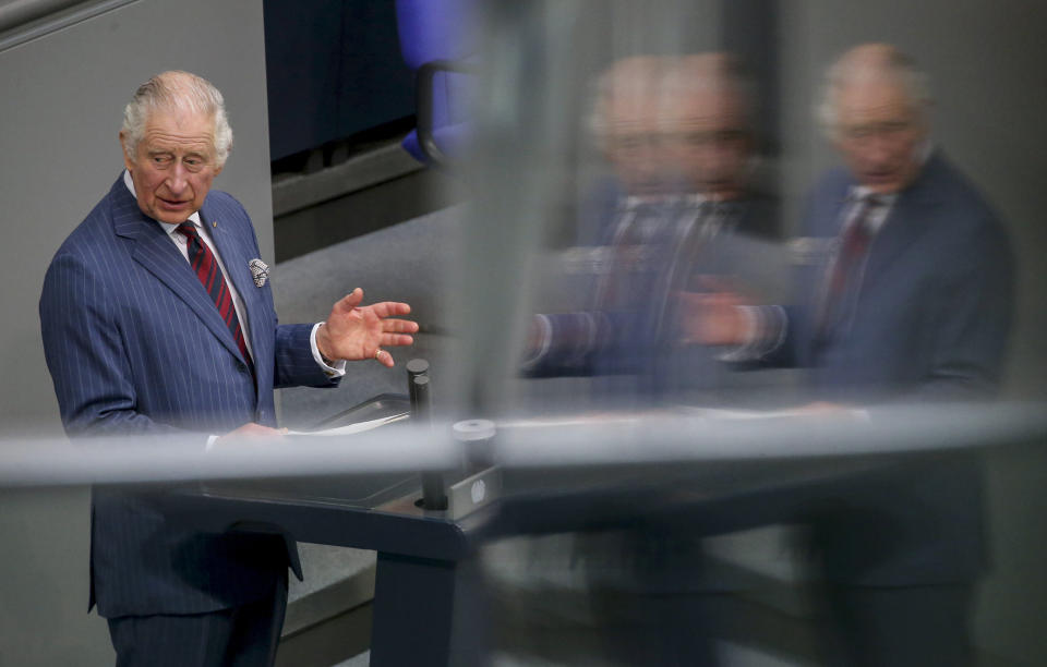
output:
[[[485,633],[452,638],[456,606],[474,598],[476,549],[493,506],[461,519],[429,511],[418,475],[210,483],[168,494],[168,511],[205,532],[279,533],[296,542],[377,551],[371,664],[480,664]],[[457,605],[456,605],[457,603]],[[466,656],[461,653],[465,652]],[[474,658],[469,655],[477,656]]]

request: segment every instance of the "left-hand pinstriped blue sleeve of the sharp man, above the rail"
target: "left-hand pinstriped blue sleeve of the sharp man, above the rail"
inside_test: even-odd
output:
[[[56,256],[44,280],[40,330],[65,432],[184,434],[135,410],[123,337],[109,307],[105,286],[82,257]]]

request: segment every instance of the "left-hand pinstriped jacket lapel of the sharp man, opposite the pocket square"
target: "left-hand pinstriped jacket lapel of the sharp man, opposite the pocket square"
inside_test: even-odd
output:
[[[196,274],[182,257],[160,225],[146,217],[123,184],[117,181],[110,193],[115,199],[112,226],[118,237],[131,239],[132,258],[167,286],[193,311],[196,317],[232,354],[240,355],[232,333],[221,320],[215,302],[200,283]]]

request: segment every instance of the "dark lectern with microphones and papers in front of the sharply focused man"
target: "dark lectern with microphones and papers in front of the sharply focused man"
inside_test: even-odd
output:
[[[409,396],[375,397],[316,429],[401,417],[428,422],[428,362],[411,360]],[[395,438],[395,424],[384,428]],[[471,610],[481,599],[476,554],[498,486],[493,470],[450,488],[442,471],[419,471],[209,482],[176,489],[164,502],[174,521],[198,531],[276,533],[294,543],[377,551],[371,664],[480,665],[486,632],[478,627],[484,615]],[[456,617],[469,618],[468,632],[456,634],[456,627],[465,630]]]

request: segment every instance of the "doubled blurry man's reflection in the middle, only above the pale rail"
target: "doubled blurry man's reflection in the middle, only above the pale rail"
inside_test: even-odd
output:
[[[582,222],[600,276],[587,310],[535,319],[532,375],[627,374],[645,401],[714,383],[708,353],[682,344],[676,294],[736,272],[742,235],[775,223],[751,184],[750,104],[720,53],[628,58],[601,76],[592,128],[615,181]]]

